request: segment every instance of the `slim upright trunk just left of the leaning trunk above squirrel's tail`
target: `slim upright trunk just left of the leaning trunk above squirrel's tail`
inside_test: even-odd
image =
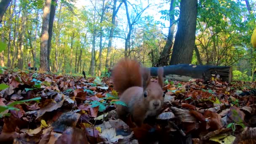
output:
[[[102,35],[103,35],[103,29],[102,29],[102,21],[105,13],[105,6],[104,6],[105,0],[102,0],[102,11],[101,11],[101,20],[100,20],[100,40],[99,40],[99,76],[101,76],[101,53],[102,53]]]

